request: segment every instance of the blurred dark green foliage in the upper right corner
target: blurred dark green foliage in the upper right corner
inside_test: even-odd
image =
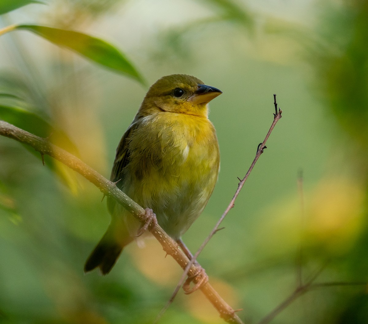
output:
[[[326,12],[321,35],[329,46],[315,58],[320,94],[330,102],[340,125],[367,150],[368,4],[347,1]]]

